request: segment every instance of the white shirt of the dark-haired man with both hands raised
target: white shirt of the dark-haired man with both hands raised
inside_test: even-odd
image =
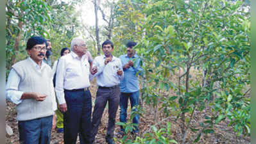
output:
[[[98,86],[111,87],[120,83],[120,80],[124,78],[124,74],[117,75],[117,70],[123,70],[122,62],[115,56],[112,57],[112,61],[105,65],[105,55],[97,56],[92,64],[92,67],[97,66],[98,72],[94,74],[97,76]]]

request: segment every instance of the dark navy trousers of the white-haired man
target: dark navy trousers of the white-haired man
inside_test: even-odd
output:
[[[90,118],[92,114],[92,98],[89,90],[64,90],[67,111],[64,113],[64,143],[75,144],[78,133],[80,143],[90,143]]]

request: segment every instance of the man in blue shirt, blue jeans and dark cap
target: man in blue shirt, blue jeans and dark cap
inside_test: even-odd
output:
[[[139,106],[139,75],[143,72],[140,67],[140,60],[133,49],[136,45],[135,42],[130,41],[126,44],[126,54],[119,56],[122,61],[124,70],[124,79],[120,83],[120,122],[126,123],[127,118],[127,108],[128,100],[130,100],[131,108],[133,111],[137,111],[137,106]],[[137,60],[136,60],[137,59]],[[134,64],[135,63],[135,64]],[[139,115],[136,114],[132,120],[133,124],[137,124],[132,133],[135,135],[139,134]],[[124,128],[121,126],[121,132],[124,135]]]

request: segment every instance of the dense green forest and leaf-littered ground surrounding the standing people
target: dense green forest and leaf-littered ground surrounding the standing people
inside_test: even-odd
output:
[[[94,19],[83,17],[83,4],[94,6]],[[52,61],[76,36],[93,57],[102,54],[107,38],[114,56],[126,53],[126,42],[134,40],[144,63],[136,112],[140,134],[130,134],[130,113],[126,124],[117,123],[127,134],[116,143],[250,143],[250,19],[248,0],[8,0],[6,77],[13,63],[28,56],[26,41],[33,35],[51,40]],[[88,20],[95,24],[83,22]],[[95,99],[95,80],[92,85]],[[18,143],[10,102],[6,124],[14,132],[6,142]],[[106,125],[104,115],[98,143]],[[62,135],[53,132],[52,141],[62,143]]]

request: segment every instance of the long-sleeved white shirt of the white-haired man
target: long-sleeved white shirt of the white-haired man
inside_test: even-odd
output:
[[[78,55],[71,51],[62,56],[58,61],[56,70],[55,92],[58,104],[65,103],[64,89],[73,90],[90,86],[90,65],[85,55],[79,59]]]

